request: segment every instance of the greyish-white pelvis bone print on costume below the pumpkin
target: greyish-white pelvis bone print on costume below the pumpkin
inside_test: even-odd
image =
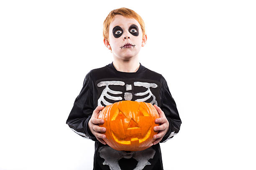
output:
[[[100,157],[105,160],[103,162],[103,165],[108,165],[110,170],[121,170],[118,164],[118,160],[122,158],[134,158],[138,161],[138,163],[136,168],[134,168],[133,170],[142,170],[146,165],[151,165],[148,160],[153,159],[156,153],[153,148],[126,153],[125,151],[114,150],[109,146],[103,146],[99,148],[98,151],[100,153]]]

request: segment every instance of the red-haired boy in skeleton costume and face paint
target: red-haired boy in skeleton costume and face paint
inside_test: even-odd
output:
[[[142,18],[133,10],[119,8],[103,23],[104,44],[113,53],[113,62],[91,70],[85,76],[80,94],[67,119],[77,134],[95,141],[93,170],[163,170],[159,143],[179,132],[181,120],[164,77],[138,62],[138,52],[147,36]],[[102,138],[104,120],[97,115],[106,105],[122,100],[151,102],[159,112],[159,130],[151,147],[142,151],[118,151]]]

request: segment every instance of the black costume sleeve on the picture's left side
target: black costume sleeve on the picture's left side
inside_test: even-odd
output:
[[[94,110],[91,86],[92,82],[89,72],[84,78],[82,90],[74,101],[74,106],[69,113],[66,124],[69,125],[71,130],[83,138],[98,141],[88,126],[88,122]]]

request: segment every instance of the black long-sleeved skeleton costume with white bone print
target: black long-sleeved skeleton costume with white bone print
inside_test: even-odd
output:
[[[90,131],[88,122],[97,106],[122,100],[148,102],[161,108],[169,129],[160,143],[179,132],[182,121],[166,80],[141,63],[136,72],[120,72],[112,62],[87,73],[66,123],[78,135],[95,141],[93,170],[163,170],[159,143],[142,151],[118,151],[100,143]]]

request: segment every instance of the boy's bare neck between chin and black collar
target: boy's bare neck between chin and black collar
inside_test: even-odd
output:
[[[140,67],[138,60],[113,60],[113,65],[116,70],[121,72],[136,72]]]

